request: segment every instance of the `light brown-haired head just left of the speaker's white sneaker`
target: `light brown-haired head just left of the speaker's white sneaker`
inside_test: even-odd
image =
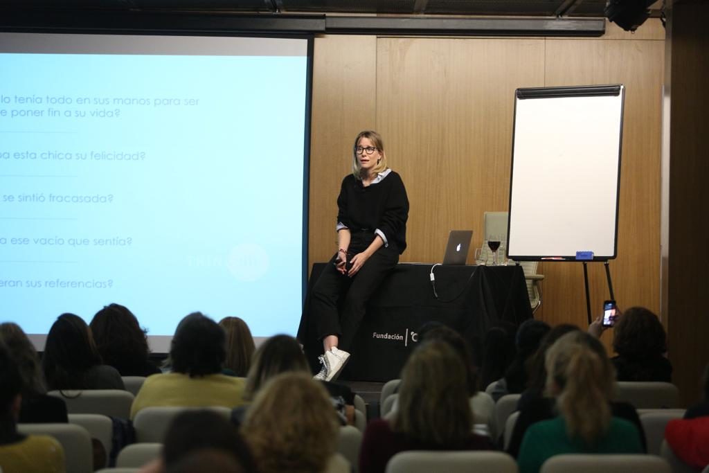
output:
[[[246,377],[244,397],[253,399],[269,379],[291,371],[310,373],[301,345],[290,335],[274,335],[264,341],[254,354]]]

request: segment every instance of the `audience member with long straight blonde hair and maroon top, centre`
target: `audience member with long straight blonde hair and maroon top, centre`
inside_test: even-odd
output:
[[[405,450],[488,450],[489,438],[472,433],[464,364],[445,342],[419,345],[401,372],[399,407],[391,423],[367,425],[359,471],[384,473],[386,463]]]

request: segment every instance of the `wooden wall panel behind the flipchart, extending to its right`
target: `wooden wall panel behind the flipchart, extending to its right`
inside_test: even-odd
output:
[[[547,39],[547,86],[624,84],[618,258],[610,272],[619,306],[659,313],[660,127],[664,41]],[[593,176],[586,177],[593,179]],[[586,323],[583,270],[547,263],[542,318]],[[608,298],[603,265],[589,265],[591,310]],[[610,331],[604,335],[609,343]]]

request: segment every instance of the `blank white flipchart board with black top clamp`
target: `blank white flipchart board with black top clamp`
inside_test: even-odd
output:
[[[624,94],[623,85],[517,89],[508,257],[616,256]]]

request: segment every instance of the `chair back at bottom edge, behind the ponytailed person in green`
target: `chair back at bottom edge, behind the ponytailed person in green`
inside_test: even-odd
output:
[[[666,460],[655,455],[557,455],[549,458],[540,473],[672,473]]]

